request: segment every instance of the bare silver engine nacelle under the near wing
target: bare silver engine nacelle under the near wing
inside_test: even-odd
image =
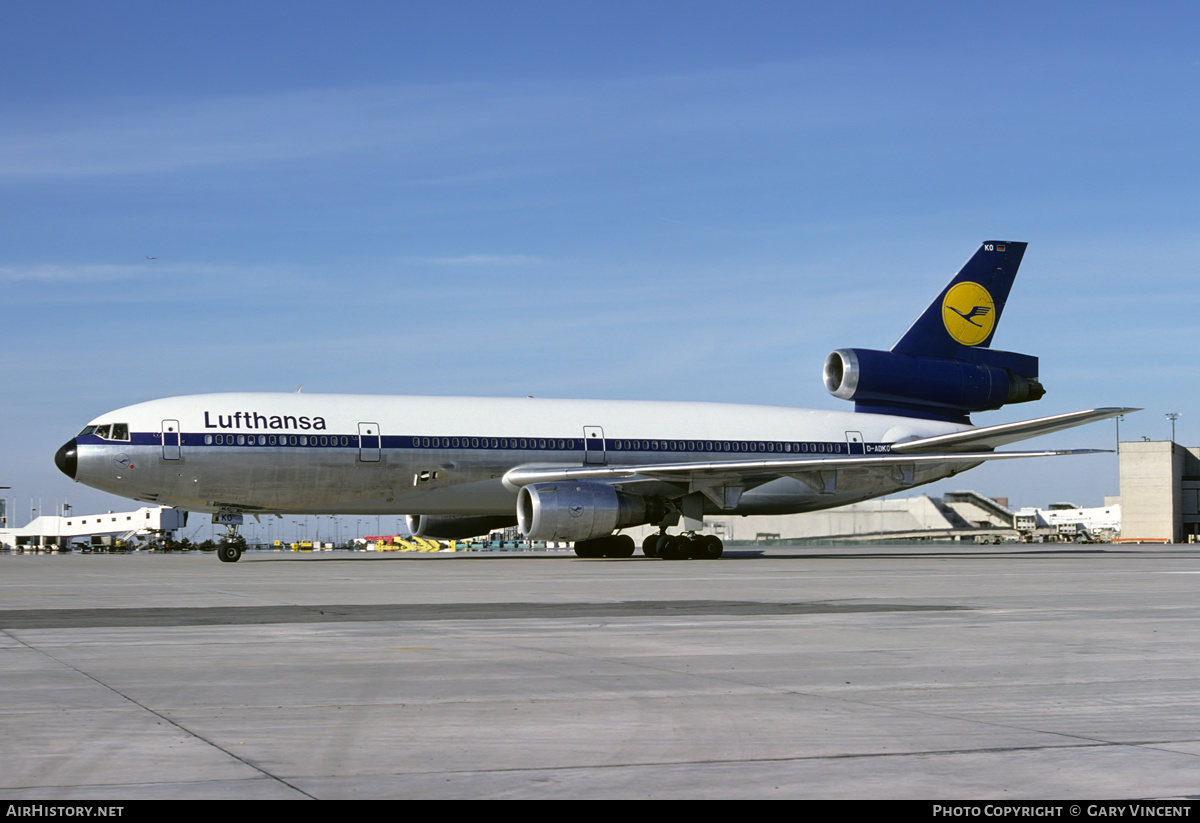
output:
[[[658,522],[662,504],[587,481],[530,483],[517,493],[517,524],[526,540],[576,542]]]

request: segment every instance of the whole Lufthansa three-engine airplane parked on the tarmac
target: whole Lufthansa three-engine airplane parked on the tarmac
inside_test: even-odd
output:
[[[984,242],[887,352],[836,349],[826,389],[853,412],[654,401],[215,394],[102,414],[60,447],[77,482],[143,503],[246,515],[406,515],[413,534],[520,525],[583,558],[716,559],[704,515],[785,515],[908,489],[992,459],[1097,450],[997,446],[1134,412],[974,427],[1039,400],[1036,356],[990,344],[1025,242]],[[668,529],[680,525],[678,533]]]

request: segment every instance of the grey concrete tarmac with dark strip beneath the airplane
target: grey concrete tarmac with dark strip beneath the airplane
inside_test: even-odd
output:
[[[0,797],[1200,795],[1200,552],[0,555]]]

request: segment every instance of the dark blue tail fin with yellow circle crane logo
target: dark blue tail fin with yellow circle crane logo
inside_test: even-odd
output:
[[[989,241],[979,246],[892,350],[959,358],[962,347],[990,347],[1027,245]]]

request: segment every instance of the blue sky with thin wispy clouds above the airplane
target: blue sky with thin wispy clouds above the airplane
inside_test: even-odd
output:
[[[1002,10],[1002,11],[997,11]],[[1200,441],[1192,4],[0,5],[0,485],[236,390],[848,408],[983,240],[1046,397]],[[149,260],[148,256],[157,259]],[[1111,447],[1098,425],[1034,441]],[[1117,493],[1115,457],[930,487]],[[24,503],[22,503],[24,500]]]

